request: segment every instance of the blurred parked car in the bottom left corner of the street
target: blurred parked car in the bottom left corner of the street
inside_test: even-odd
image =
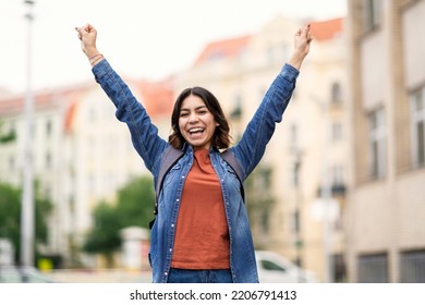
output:
[[[29,266],[1,266],[0,283],[52,283],[53,281],[42,274],[38,269]]]

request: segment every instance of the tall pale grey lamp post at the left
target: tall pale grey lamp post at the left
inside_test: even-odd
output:
[[[27,8],[27,62],[25,94],[25,137],[23,160],[23,195],[21,212],[21,265],[34,265],[34,190],[33,190],[33,90],[32,90],[32,25],[34,1],[25,0]]]

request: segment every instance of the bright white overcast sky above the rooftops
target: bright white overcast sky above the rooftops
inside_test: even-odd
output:
[[[0,88],[24,91],[93,81],[75,26],[90,23],[97,47],[122,75],[162,80],[189,69],[208,42],[258,32],[277,15],[327,20],[347,0],[0,0]],[[28,36],[31,44],[28,44]]]

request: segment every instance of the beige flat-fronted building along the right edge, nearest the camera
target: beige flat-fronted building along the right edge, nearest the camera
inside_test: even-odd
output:
[[[424,0],[350,0],[350,282],[425,282]]]

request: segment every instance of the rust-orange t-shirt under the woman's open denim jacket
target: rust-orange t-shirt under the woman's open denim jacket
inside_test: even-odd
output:
[[[229,230],[221,185],[208,149],[194,151],[175,230],[172,268],[230,268]]]

